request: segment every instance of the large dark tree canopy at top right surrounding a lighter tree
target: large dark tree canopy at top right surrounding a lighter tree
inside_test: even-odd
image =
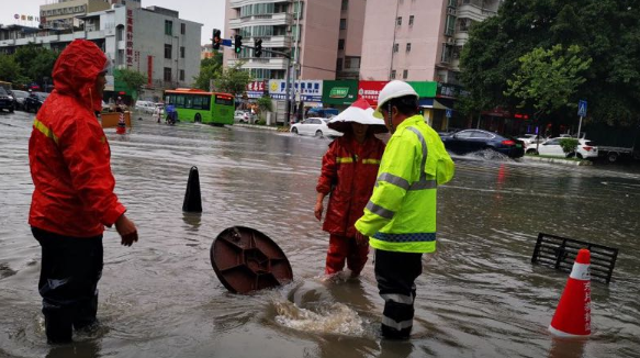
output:
[[[505,0],[498,15],[471,28],[462,50],[461,80],[470,91],[466,108],[514,108],[505,95],[519,59],[536,48],[577,45],[592,59],[568,102],[589,101],[589,119],[640,122],[640,6],[635,0]],[[548,118],[571,115],[566,106]]]

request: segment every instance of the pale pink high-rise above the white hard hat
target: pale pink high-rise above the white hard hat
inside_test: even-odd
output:
[[[502,0],[368,0],[360,78],[457,84],[469,28]]]

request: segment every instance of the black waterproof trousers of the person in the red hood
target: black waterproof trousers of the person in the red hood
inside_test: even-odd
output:
[[[78,330],[96,322],[102,235],[77,238],[35,227],[31,231],[42,247],[38,289],[47,340],[70,342],[72,327]]]

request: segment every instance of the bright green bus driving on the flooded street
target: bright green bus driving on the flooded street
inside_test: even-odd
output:
[[[235,98],[232,94],[178,88],[164,91],[165,109],[173,105],[182,122],[214,125],[233,124]]]

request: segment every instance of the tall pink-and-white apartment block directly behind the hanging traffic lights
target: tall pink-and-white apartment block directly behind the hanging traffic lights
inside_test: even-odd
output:
[[[238,61],[256,79],[285,78],[290,53],[298,79],[357,78],[362,50],[365,0],[227,0],[224,36],[243,44],[262,40],[260,58],[251,49],[224,50],[224,64]]]

